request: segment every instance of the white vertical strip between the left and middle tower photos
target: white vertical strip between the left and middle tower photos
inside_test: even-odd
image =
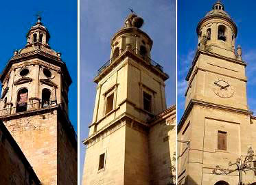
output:
[[[78,185],[80,182],[80,0],[78,0]]]

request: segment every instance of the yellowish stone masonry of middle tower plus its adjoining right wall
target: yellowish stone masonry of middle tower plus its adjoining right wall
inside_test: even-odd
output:
[[[94,79],[97,94],[89,137],[84,140],[84,185],[162,185],[173,175],[175,106],[166,109],[168,75],[149,58],[149,36],[126,25],[111,42],[109,65]],[[139,50],[143,47],[146,53],[142,56]],[[151,97],[149,111],[143,106],[144,92]],[[111,93],[113,109],[106,113]],[[103,169],[99,169],[101,154],[105,154]]]

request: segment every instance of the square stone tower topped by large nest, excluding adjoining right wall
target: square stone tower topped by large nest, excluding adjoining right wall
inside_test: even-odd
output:
[[[150,59],[153,42],[142,24],[136,14],[128,16],[110,42],[110,60],[94,79],[83,184],[150,184],[148,120],[166,109],[169,76]]]

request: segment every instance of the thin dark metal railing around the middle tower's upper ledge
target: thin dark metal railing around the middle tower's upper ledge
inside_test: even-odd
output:
[[[148,63],[150,63],[152,66],[154,66],[155,68],[158,68],[159,70],[161,70],[161,72],[163,72],[163,66],[161,66],[159,63],[157,63],[156,61],[150,59],[150,57],[148,57],[146,55],[141,55],[140,51],[138,49],[136,49],[136,48],[134,50],[132,50],[132,51],[133,51],[133,53],[135,53],[136,55],[138,55],[142,59],[148,61]],[[99,70],[97,70],[97,75],[99,75],[105,68],[107,68],[110,65],[110,63],[115,61],[115,59],[117,59],[117,57],[112,57],[108,61],[106,61],[106,63],[104,63],[104,65]]]

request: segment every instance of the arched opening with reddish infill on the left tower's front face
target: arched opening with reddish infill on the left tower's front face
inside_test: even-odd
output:
[[[27,111],[27,94],[27,88],[23,88],[18,91],[16,113]]]

